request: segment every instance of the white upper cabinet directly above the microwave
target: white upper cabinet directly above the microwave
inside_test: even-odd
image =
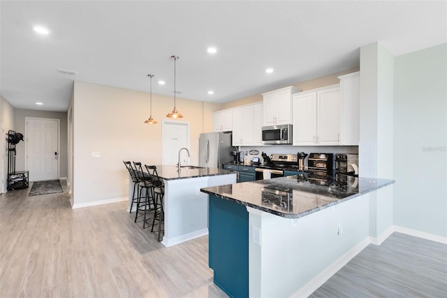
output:
[[[292,123],[292,94],[299,88],[289,86],[263,93],[264,126]]]

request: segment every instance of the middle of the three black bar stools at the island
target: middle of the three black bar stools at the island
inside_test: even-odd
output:
[[[141,162],[133,162],[133,166],[135,166],[136,176],[138,178],[138,186],[140,191],[138,192],[137,198],[137,211],[135,213],[135,220],[137,222],[138,213],[142,212],[143,214],[143,224],[142,228],[146,228],[147,224],[147,214],[151,211],[154,211],[154,184],[152,184],[152,176],[145,173],[142,169]],[[142,194],[142,191],[145,190],[145,194]],[[141,214],[140,214],[141,216]]]

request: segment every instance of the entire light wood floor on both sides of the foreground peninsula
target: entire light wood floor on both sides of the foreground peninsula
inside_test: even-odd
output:
[[[126,202],[71,209],[66,193],[28,193],[0,194],[1,298],[227,297],[212,282],[207,236],[166,248]],[[312,297],[447,297],[446,248],[395,233]]]

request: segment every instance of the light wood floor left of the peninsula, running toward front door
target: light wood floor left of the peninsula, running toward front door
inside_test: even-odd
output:
[[[127,203],[71,209],[68,194],[0,195],[0,297],[227,297],[207,236],[170,248]]]

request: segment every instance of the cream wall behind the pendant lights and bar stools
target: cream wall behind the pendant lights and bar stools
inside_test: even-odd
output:
[[[152,95],[152,116],[147,125],[149,94],[116,87],[75,82],[73,99],[73,201],[127,197],[128,175],[123,160],[161,164],[161,120],[172,111],[173,97]],[[182,121],[190,123],[191,164],[198,164],[200,133],[212,127],[210,114],[218,105],[177,99]],[[92,157],[91,152],[101,152]]]

